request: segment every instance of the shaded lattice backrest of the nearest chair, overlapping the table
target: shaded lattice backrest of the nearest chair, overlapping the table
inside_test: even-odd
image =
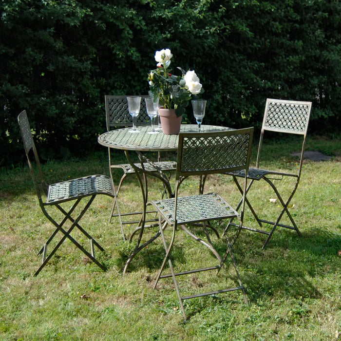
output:
[[[179,133],[176,180],[189,175],[248,170],[253,128]]]

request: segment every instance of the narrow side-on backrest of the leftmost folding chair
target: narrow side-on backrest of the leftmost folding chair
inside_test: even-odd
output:
[[[41,193],[46,193],[47,184],[44,181],[43,173],[35,143],[33,141],[30,124],[28,122],[26,111],[22,111],[18,116],[22,142],[24,144],[28,166],[32,175],[33,183],[38,195],[39,204],[42,205]],[[32,157],[33,154],[33,157]],[[36,164],[34,166],[34,164]]]

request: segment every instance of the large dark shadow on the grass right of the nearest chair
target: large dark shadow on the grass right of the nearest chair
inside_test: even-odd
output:
[[[233,247],[251,301],[275,296],[320,298],[311,279],[340,270],[341,235],[323,227],[306,231],[302,237],[291,231],[278,233],[263,251],[254,235],[243,233]]]

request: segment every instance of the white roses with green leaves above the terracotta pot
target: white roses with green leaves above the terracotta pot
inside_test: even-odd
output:
[[[194,71],[186,72],[178,67],[182,75],[172,75],[169,68],[171,57],[170,49],[156,51],[157,68],[149,72],[148,80],[154,98],[159,98],[165,109],[176,109],[176,116],[179,117],[184,114],[192,96],[202,94],[204,89]]]

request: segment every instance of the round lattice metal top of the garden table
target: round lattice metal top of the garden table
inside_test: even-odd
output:
[[[201,126],[201,132],[203,133],[230,129],[211,125]],[[161,131],[158,134],[148,134],[152,130],[151,126],[137,127],[140,133],[130,133],[131,130],[132,128],[129,127],[103,133],[98,136],[98,143],[109,148],[140,152],[166,152],[178,149],[179,135],[166,135]],[[196,133],[198,132],[198,126],[196,124],[182,124],[180,132]]]

